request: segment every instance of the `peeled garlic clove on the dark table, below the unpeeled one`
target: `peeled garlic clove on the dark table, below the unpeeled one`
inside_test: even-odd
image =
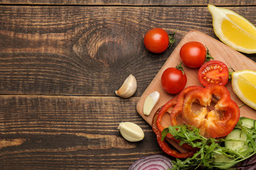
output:
[[[144,139],[144,132],[139,125],[130,122],[122,122],[117,128],[122,137],[129,142],[139,142]]]

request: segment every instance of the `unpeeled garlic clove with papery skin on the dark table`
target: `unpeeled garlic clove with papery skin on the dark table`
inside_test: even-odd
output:
[[[137,81],[132,74],[129,74],[129,77],[127,77],[127,79],[124,80],[124,83],[119,88],[119,90],[115,91],[115,94],[122,98],[129,98],[132,95],[134,95],[136,91]]]

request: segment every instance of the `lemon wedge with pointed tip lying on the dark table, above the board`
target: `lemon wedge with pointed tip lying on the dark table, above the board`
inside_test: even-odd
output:
[[[256,53],[256,27],[234,11],[208,5],[215,35],[226,45],[247,54]]]

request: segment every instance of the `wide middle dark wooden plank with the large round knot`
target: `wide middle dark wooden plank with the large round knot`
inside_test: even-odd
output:
[[[256,24],[255,6],[230,9]],[[141,96],[189,30],[216,38],[206,7],[1,6],[0,21],[0,94],[114,96],[134,74]],[[155,27],[177,29],[160,55],[143,44]]]

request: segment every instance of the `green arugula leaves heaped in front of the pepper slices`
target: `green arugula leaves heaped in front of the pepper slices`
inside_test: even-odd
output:
[[[176,159],[171,170],[178,169],[198,169],[203,166],[204,169],[228,169],[239,162],[251,157],[256,153],[256,132],[255,129],[248,129],[242,126],[241,120],[235,128],[240,128],[247,135],[245,145],[248,149],[238,152],[228,149],[224,146],[225,139],[213,139],[203,137],[199,134],[199,129],[190,125],[169,126],[162,132],[162,140],[168,133],[171,133],[177,140],[181,140],[180,145],[187,143],[192,147],[198,147],[198,152],[191,158]],[[241,142],[241,140],[232,140]]]

